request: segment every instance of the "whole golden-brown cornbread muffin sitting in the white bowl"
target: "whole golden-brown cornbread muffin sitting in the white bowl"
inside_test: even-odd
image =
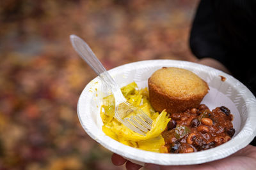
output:
[[[149,100],[158,112],[197,108],[208,90],[207,83],[196,74],[177,67],[163,67],[148,79]]]

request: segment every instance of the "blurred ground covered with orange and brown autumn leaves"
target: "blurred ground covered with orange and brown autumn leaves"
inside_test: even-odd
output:
[[[96,74],[72,49],[91,46],[107,69],[191,60],[198,0],[2,0],[0,169],[125,169],[81,127],[79,95]]]

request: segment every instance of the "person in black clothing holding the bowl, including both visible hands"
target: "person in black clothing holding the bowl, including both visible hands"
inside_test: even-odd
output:
[[[256,49],[256,2],[253,0],[200,1],[191,27],[189,45],[198,64],[231,74],[255,96],[256,69],[252,61]],[[225,159],[199,165],[158,166],[146,169],[255,169],[256,140]],[[129,170],[142,166],[113,153],[115,166],[125,164]]]

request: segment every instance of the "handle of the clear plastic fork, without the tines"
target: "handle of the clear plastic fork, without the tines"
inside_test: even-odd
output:
[[[88,44],[83,41],[83,39],[79,38],[76,35],[71,35],[70,40],[72,46],[76,50],[76,52],[80,55],[80,57],[87,62],[87,64],[97,73],[97,75],[108,85],[108,87],[113,92],[116,103],[123,103],[125,100],[120,87],[118,87],[116,81],[110,76],[108,71],[106,71],[105,67],[93,53],[92,49]]]

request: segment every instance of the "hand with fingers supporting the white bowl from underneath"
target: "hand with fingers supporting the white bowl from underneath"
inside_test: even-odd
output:
[[[186,153],[184,153],[186,154]],[[113,153],[112,162],[115,166],[121,166],[125,164],[127,170],[138,170],[142,166],[138,164],[134,164],[129,160],[124,159],[120,155],[116,155]],[[238,152],[230,155],[225,159],[215,160],[212,162],[207,162],[205,164],[198,165],[189,165],[189,166],[159,166],[156,164],[145,164],[145,169],[162,169],[162,170],[170,170],[170,169],[179,169],[179,170],[223,170],[223,169],[255,169],[256,167],[256,146],[248,145],[245,148],[239,150]]]

